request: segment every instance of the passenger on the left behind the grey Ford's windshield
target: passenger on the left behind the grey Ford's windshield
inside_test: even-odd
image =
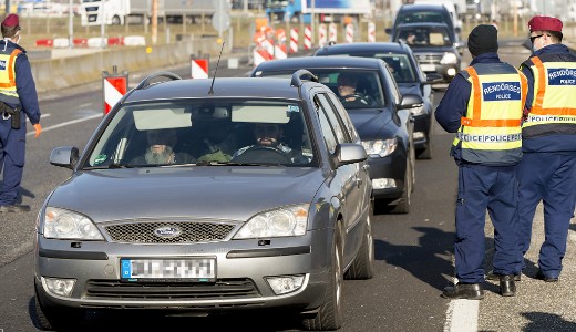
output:
[[[194,163],[192,155],[187,153],[174,152],[177,143],[176,131],[155,129],[146,133],[148,147],[144,155],[134,158],[131,164],[134,165],[169,165],[169,164],[188,164]]]

